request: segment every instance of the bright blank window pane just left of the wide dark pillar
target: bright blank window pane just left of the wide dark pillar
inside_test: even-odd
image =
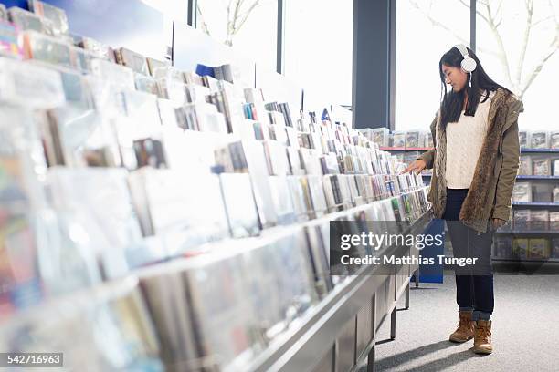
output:
[[[305,109],[351,105],[353,0],[290,0],[285,12],[285,75],[305,89]]]

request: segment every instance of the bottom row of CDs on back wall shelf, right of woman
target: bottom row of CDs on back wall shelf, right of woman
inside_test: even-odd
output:
[[[559,259],[559,238],[498,237],[493,245],[493,257],[508,260]]]

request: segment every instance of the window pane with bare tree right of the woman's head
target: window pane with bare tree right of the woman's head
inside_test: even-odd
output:
[[[523,129],[556,129],[559,1],[478,2],[477,54],[491,78],[524,103]]]

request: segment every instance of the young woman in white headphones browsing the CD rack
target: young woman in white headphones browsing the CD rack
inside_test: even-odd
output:
[[[456,268],[459,326],[449,339],[474,338],[474,352],[490,354],[493,312],[491,244],[509,220],[519,166],[518,115],[522,102],[495,83],[467,47],[452,47],[438,64],[444,90],[431,123],[435,148],[405,170],[433,168],[428,200],[447,222],[455,257],[478,260]],[[452,89],[448,92],[447,85]]]

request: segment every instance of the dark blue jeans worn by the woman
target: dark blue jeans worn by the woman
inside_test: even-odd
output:
[[[489,320],[493,312],[491,268],[492,231],[478,233],[459,222],[459,213],[468,189],[447,189],[443,219],[447,222],[454,257],[477,258],[475,265],[456,267],[456,302],[459,310],[472,310],[473,320]]]

